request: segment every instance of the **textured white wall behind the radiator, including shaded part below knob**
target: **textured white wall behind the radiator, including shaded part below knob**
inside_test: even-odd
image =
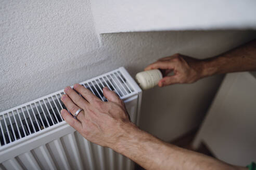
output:
[[[134,76],[176,52],[207,58],[253,31],[95,33],[88,1],[0,1],[0,111],[124,66]],[[165,140],[198,125],[221,77],[144,92],[141,126]]]

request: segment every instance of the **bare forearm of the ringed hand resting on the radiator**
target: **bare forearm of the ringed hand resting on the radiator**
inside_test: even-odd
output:
[[[240,169],[206,155],[165,143],[152,135],[127,126],[113,147],[145,169]],[[243,168],[241,168],[243,169]]]

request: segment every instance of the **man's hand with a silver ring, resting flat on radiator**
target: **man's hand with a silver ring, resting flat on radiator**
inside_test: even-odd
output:
[[[79,92],[83,97],[81,97]],[[101,101],[91,91],[80,84],[74,84],[74,90],[65,88],[61,101],[71,114],[82,108],[77,119],[66,109],[61,110],[63,119],[83,137],[101,146],[114,148],[127,126],[135,126],[129,120],[123,101],[107,87],[103,94],[108,102]]]

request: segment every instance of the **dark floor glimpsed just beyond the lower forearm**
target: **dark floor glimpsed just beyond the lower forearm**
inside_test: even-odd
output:
[[[197,131],[198,131],[198,129],[190,131],[189,133],[171,141],[170,143],[173,145],[176,145],[178,147],[185,148],[188,150],[193,150],[196,152],[200,152],[200,153],[203,153],[203,154],[209,155],[210,157],[215,158],[214,155],[211,153],[211,151],[203,143],[200,145],[200,147],[197,150],[194,150],[191,147],[191,144],[193,143],[193,139],[195,138]],[[136,164],[135,170],[144,170],[144,168],[140,167],[138,164]]]

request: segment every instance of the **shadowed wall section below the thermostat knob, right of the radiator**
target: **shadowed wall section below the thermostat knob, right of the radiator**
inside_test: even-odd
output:
[[[196,129],[223,77],[212,76],[193,84],[174,84],[144,91],[140,128],[165,141],[172,141]]]

